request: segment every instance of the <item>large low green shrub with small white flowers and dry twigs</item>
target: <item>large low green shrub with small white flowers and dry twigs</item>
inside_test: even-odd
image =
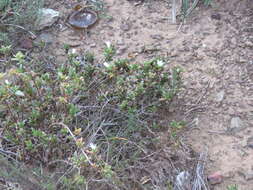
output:
[[[18,52],[0,74],[2,147],[20,161],[63,165],[67,172],[57,178],[57,189],[100,180],[129,189],[122,171],[145,152],[155,113],[180,89],[180,68],[165,70],[161,58],[115,60],[110,48],[104,66],[94,64],[91,53],[84,59],[71,53],[54,72]],[[7,50],[2,47],[1,54],[9,55]],[[181,125],[172,123],[174,131]]]

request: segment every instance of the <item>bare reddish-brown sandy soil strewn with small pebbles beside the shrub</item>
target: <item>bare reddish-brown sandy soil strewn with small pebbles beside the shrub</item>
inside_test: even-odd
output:
[[[118,49],[117,57],[136,62],[169,57],[170,65],[184,69],[180,95],[184,115],[178,119],[188,121],[186,140],[197,152],[208,148],[207,174],[220,171],[225,177],[212,188],[225,190],[237,184],[240,190],[253,189],[253,180],[242,175],[253,170],[253,149],[247,146],[253,136],[253,1],[217,0],[213,7],[201,6],[179,31],[165,1],[139,6],[127,0],[105,3],[106,16],[88,36],[64,24],[73,1],[48,4],[61,12],[62,19],[42,32],[53,39],[45,53],[60,64],[64,44],[97,55],[110,41]],[[169,113],[168,118],[174,119]],[[232,118],[240,118],[240,129],[231,129]]]

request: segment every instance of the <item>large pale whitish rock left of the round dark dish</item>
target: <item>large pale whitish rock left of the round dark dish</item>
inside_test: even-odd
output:
[[[59,16],[60,13],[53,9],[41,9],[37,29],[43,30],[46,27],[52,26],[59,19]]]

